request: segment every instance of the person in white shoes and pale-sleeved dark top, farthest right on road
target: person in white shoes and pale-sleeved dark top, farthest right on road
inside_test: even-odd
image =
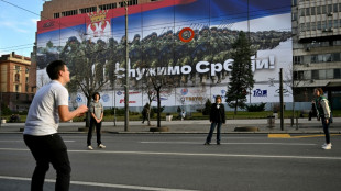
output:
[[[323,149],[331,149],[329,124],[330,124],[330,106],[326,97],[323,97],[323,90],[316,88],[314,90],[316,97],[315,105],[317,110],[318,120],[322,121],[323,132],[326,135],[326,143],[322,145]]]

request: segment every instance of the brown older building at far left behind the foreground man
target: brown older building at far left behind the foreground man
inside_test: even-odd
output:
[[[31,58],[15,55],[0,57],[0,99],[11,111],[28,111],[35,93],[36,68]]]

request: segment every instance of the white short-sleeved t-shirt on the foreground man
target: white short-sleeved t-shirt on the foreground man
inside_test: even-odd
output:
[[[68,105],[68,91],[59,81],[52,80],[34,96],[23,134],[44,136],[57,133],[61,105]]]

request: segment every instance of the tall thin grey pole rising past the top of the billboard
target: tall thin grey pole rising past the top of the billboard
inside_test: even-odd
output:
[[[124,86],[124,108],[125,108],[125,117],[124,117],[124,131],[129,132],[129,46],[128,46],[128,1],[124,1],[125,8],[125,86]]]

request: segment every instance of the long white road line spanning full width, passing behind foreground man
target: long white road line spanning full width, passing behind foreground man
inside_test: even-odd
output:
[[[29,149],[0,148],[0,150],[29,151]],[[118,154],[118,155],[163,155],[163,156],[198,156],[198,157],[240,157],[240,158],[279,158],[279,159],[320,159],[341,160],[341,157],[315,157],[290,155],[242,155],[242,154],[196,154],[196,153],[163,153],[163,151],[113,151],[113,150],[68,150],[69,153]]]

